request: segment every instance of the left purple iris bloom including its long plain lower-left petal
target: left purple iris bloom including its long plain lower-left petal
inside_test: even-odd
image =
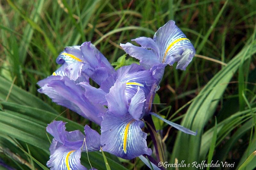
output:
[[[38,92],[100,125],[102,118],[98,115],[106,113],[107,109],[90,102],[77,83],[89,82],[90,77],[100,85],[115,69],[91,42],[66,47],[56,62],[62,66],[52,76],[37,83],[41,87]]]

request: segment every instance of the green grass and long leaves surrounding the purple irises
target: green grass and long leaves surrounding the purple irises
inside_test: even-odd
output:
[[[37,92],[36,82],[56,70],[55,59],[64,47],[92,41],[113,63],[124,55],[118,44],[153,37],[170,19],[194,44],[196,56],[186,71],[166,67],[155,100],[163,104],[154,105],[154,110],[198,130],[198,135],[183,134],[155,120],[163,161],[219,160],[235,162],[238,168],[256,150],[254,1],[7,0],[0,4],[0,158],[8,165],[45,169],[50,145],[45,127],[60,113],[57,119],[69,122],[68,130],[90,124],[99,131]],[[152,147],[151,137],[147,139]],[[148,168],[139,158],[127,161],[105,154],[111,169]],[[256,167],[256,160],[250,158],[246,169]],[[89,159],[94,167],[106,168],[100,152],[89,153]],[[86,153],[82,163],[90,167]]]

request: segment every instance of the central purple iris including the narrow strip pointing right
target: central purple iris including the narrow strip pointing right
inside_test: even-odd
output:
[[[84,87],[85,96],[91,102],[108,106],[100,125],[103,151],[123,159],[133,159],[142,154],[151,155],[152,151],[146,143],[147,134],[141,130],[144,126],[141,120],[148,114],[185,133],[196,134],[150,112],[157,80],[152,75],[152,70],[145,70],[138,64],[116,70],[98,89],[87,82],[79,84]]]

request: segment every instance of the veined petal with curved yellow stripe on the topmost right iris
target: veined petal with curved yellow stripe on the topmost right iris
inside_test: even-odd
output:
[[[178,62],[177,69],[185,70],[196,53],[191,42],[172,20],[157,30],[154,41],[160,49],[159,61],[169,65]]]

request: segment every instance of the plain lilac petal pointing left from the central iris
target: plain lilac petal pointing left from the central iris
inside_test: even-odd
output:
[[[84,87],[84,94],[87,99],[89,99],[92,103],[99,103],[102,105],[108,105],[108,101],[106,100],[106,92],[102,89],[97,89],[92,87],[88,82],[79,83],[82,87]]]

